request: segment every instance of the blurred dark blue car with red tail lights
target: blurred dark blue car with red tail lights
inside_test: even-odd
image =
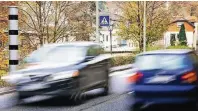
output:
[[[198,57],[190,49],[148,51],[136,56],[137,71],[128,78],[132,108],[156,104],[188,104],[196,108]]]

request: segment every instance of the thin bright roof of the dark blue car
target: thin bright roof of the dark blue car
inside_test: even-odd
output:
[[[147,51],[138,54],[139,55],[149,55],[149,54],[187,54],[193,52],[191,49],[163,49],[163,50],[154,50],[154,51]]]

